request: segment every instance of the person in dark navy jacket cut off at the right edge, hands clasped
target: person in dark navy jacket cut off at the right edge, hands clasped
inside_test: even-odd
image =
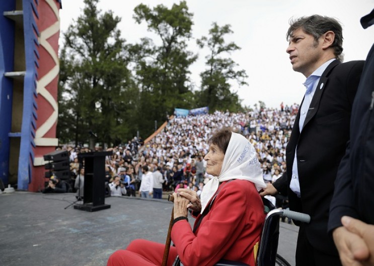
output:
[[[374,25],[374,10],[361,19]],[[352,107],[350,142],[340,163],[329,231],[345,266],[374,265],[374,44]]]

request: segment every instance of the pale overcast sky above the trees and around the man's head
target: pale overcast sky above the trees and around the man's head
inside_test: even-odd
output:
[[[193,39],[189,50],[198,53],[199,59],[191,66],[191,80],[195,89],[200,87],[199,73],[205,69],[206,50],[198,49],[196,39],[207,36],[211,24],[230,24],[233,41],[242,49],[230,56],[245,69],[248,86],[233,83],[243,104],[253,106],[259,100],[267,106],[300,103],[305,93],[303,74],[294,72],[285,52],[288,42],[285,34],[291,17],[319,14],[338,19],[343,25],[344,61],[363,60],[374,42],[374,26],[363,30],[359,20],[374,9],[374,0],[187,0],[193,13]],[[179,1],[171,0],[101,0],[99,9],[112,10],[121,18],[119,29],[127,43],[139,42],[141,37],[157,37],[147,32],[146,24],[136,24],[134,8],[140,3],[151,9],[163,4],[170,8]],[[73,20],[82,14],[83,0],[63,0],[60,10],[61,32],[64,33]],[[60,45],[62,45],[62,35]],[[178,106],[176,106],[178,107]]]

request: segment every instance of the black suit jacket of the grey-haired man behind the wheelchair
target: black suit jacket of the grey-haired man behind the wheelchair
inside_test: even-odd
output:
[[[350,114],[363,63],[335,60],[326,68],[301,133],[300,111],[296,115],[286,147],[287,172],[273,184],[281,194],[288,195],[291,210],[311,216],[311,222],[303,225],[308,240],[316,249],[330,254],[337,251],[327,234],[329,206],[338,166],[349,140]],[[301,198],[289,189],[296,146]]]

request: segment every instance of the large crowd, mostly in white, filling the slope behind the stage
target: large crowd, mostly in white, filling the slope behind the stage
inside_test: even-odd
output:
[[[255,147],[266,183],[272,183],[285,171],[285,147],[290,135],[297,104],[280,108],[254,108],[248,112],[215,111],[196,116],[175,116],[152,140],[144,144],[134,137],[124,145],[111,147],[112,156],[105,162],[106,194],[162,198],[163,191],[189,188],[201,194],[211,178],[205,173],[204,156],[208,153],[209,136],[217,128],[230,126]],[[83,197],[84,166],[78,154],[86,147],[64,146],[69,152],[70,191]],[[79,181],[79,182],[78,182]],[[46,192],[60,192],[48,189]],[[274,202],[275,203],[275,202]],[[284,201],[276,202],[284,207]]]

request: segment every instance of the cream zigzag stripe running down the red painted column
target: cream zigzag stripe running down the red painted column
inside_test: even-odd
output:
[[[57,77],[58,72],[59,72],[59,61],[58,61],[58,55],[56,51],[54,51],[53,47],[49,44],[47,41],[48,38],[56,34],[60,30],[60,18],[58,15],[58,8],[56,7],[55,3],[53,0],[46,0],[45,1],[48,6],[51,8],[53,11],[57,21],[49,26],[47,29],[42,31],[40,33],[39,37],[39,43],[44,49],[49,53],[49,55],[52,57],[55,66],[50,69],[44,76],[40,77],[38,80],[37,84],[37,93],[38,96],[43,96],[48,103],[52,106],[53,112],[52,114],[48,117],[48,119],[40,125],[36,132],[35,132],[35,145],[36,146],[58,146],[58,139],[56,138],[44,138],[45,134],[52,128],[54,123],[57,121],[58,117],[58,105],[57,101],[53,98],[51,93],[46,89],[46,86]],[[40,166],[44,165],[44,160],[43,157],[36,157],[34,159],[34,166]]]

